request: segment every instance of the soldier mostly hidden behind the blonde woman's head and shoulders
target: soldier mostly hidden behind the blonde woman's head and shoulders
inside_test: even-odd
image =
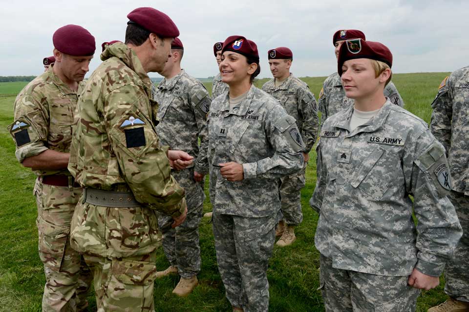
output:
[[[336,59],[339,57],[339,49],[342,43],[349,39],[365,40],[365,34],[356,29],[342,29],[336,31],[332,37]],[[401,107],[404,106],[404,101],[392,81],[390,81],[384,88],[384,96],[390,98],[392,103]],[[328,117],[348,108],[352,103],[352,99],[345,97],[345,91],[343,90],[339,74],[335,72],[327,77],[322,84],[322,89],[319,94],[319,110],[322,114],[321,124]]]

